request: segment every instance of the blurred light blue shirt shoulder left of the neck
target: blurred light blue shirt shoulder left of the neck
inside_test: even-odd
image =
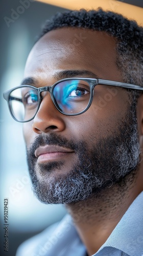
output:
[[[73,220],[68,214],[54,225],[20,245],[16,256],[85,255]]]

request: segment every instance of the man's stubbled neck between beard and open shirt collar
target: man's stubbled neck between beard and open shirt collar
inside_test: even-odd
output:
[[[88,199],[66,205],[88,255],[96,253],[106,242],[130,204],[141,192],[138,178],[127,175]],[[95,242],[96,241],[96,242]]]

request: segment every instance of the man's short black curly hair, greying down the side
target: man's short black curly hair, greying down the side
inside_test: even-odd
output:
[[[76,27],[104,31],[116,38],[117,67],[125,82],[142,86],[143,81],[143,28],[133,20],[111,11],[66,11],[46,20],[38,39],[51,30]]]

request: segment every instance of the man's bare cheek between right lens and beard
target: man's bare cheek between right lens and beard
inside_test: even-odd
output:
[[[90,108],[82,115],[73,117],[68,129],[75,135],[75,139],[86,142],[98,142],[117,133],[125,120],[128,108],[128,97],[118,95],[110,101],[92,102]],[[124,100],[123,100],[124,98]],[[122,100],[121,100],[122,99]],[[121,103],[122,102],[122,103]]]

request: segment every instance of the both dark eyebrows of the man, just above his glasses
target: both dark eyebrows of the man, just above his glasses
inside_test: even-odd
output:
[[[54,74],[54,78],[57,81],[64,79],[64,78],[82,77],[82,76],[96,78],[96,79],[99,78],[96,74],[94,74],[88,70],[64,70],[64,71],[56,72]],[[37,84],[39,84],[39,81],[38,81],[38,79],[35,79],[33,77],[27,77],[21,81],[20,85],[23,86],[26,84],[37,87]]]

